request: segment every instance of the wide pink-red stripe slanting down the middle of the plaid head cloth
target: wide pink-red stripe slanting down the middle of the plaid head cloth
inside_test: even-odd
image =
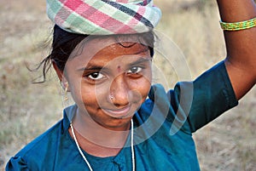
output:
[[[120,22],[119,20],[115,20],[107,14],[104,14],[101,11],[94,9],[90,5],[84,3],[83,1],[67,0],[64,5],[67,8],[73,10],[73,12],[84,17],[84,19],[90,20],[97,26],[101,26],[102,28],[107,29],[109,31],[113,31],[113,26],[118,27],[117,29],[121,27],[120,31],[133,31],[133,29],[130,26],[125,26],[125,24]],[[119,30],[113,32],[119,33]]]

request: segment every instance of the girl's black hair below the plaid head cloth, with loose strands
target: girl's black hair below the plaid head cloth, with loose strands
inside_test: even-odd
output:
[[[54,26],[53,29],[53,41],[51,45],[51,51],[49,55],[42,60],[38,68],[42,67],[43,69],[43,81],[40,83],[44,83],[46,79],[46,73],[49,71],[49,68],[52,64],[52,61],[55,62],[56,66],[64,71],[66,62],[70,57],[70,54],[73,52],[73,49],[81,43],[84,38],[89,37],[89,35],[76,34],[68,31],[64,31],[59,26]],[[148,46],[150,51],[150,56],[154,55],[154,32],[148,31],[145,33],[137,33],[137,34],[120,34],[120,35],[108,35],[108,36],[90,36],[90,39],[97,37],[115,37],[117,39],[131,39],[129,37],[137,37],[139,43]]]

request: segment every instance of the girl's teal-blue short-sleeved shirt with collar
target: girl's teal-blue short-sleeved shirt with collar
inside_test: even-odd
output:
[[[237,104],[224,62],[167,93],[160,84],[152,86],[133,117],[136,170],[200,170],[192,134]],[[63,119],[12,157],[6,171],[89,170],[68,133],[76,108],[65,109]],[[94,170],[131,171],[129,146],[115,157],[83,152]]]

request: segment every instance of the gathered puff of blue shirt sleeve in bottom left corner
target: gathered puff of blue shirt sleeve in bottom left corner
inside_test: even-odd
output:
[[[26,162],[22,157],[11,157],[6,165],[5,171],[28,171]]]

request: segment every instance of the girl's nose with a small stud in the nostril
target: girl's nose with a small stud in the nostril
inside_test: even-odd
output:
[[[110,86],[110,99],[113,105],[124,106],[129,105],[129,94],[131,93],[124,74],[113,79]]]

